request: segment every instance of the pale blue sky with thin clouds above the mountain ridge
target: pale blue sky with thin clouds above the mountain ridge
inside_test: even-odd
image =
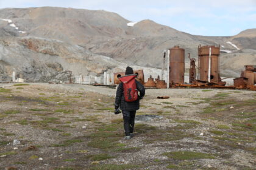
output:
[[[0,0],[0,9],[43,6],[107,10],[193,35],[232,36],[256,28],[256,0]]]

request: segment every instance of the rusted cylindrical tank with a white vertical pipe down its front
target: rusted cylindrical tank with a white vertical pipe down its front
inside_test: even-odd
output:
[[[198,56],[199,80],[219,83],[219,47],[198,47]]]

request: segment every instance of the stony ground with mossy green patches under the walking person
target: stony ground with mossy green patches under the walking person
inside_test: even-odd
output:
[[[0,88],[0,169],[254,169],[256,92],[148,89],[131,140],[113,114],[115,92]]]

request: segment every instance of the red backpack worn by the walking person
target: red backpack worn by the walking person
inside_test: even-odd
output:
[[[124,84],[124,100],[127,102],[136,101],[138,99],[138,90],[135,82],[137,75],[125,75],[119,80]]]

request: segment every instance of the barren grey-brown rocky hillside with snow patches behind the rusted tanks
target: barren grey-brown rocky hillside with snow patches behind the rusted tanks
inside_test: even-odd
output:
[[[199,44],[220,44],[221,73],[229,77],[239,76],[244,64],[256,64],[256,29],[213,37],[151,20],[130,22],[104,10],[1,9],[0,81],[9,81],[13,70],[27,81],[50,81],[65,70],[100,75],[126,64],[160,68],[163,50],[174,45],[197,58]]]

